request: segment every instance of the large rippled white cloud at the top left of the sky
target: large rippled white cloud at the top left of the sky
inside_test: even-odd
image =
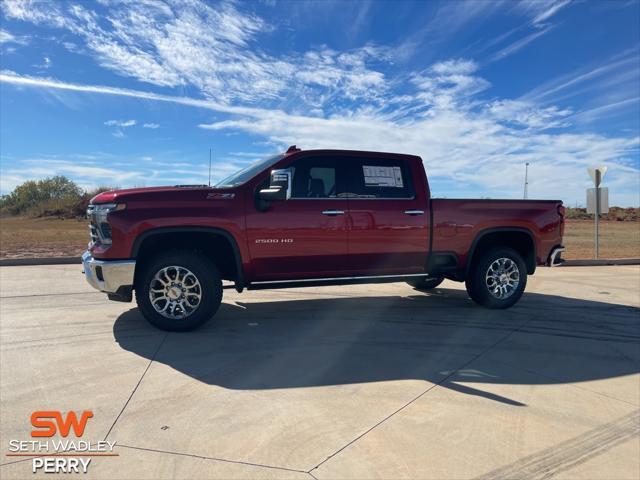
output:
[[[90,4],[37,2],[27,8],[10,1],[3,9],[9,18],[79,36],[100,65],[120,75],[163,87],[193,86],[220,103],[292,100],[297,92],[301,104],[318,106],[336,97],[373,99],[385,92],[384,75],[368,63],[388,51],[369,45],[348,52],[319,47],[274,57],[256,38],[272,27],[238,11],[234,2],[107,5],[108,28]]]

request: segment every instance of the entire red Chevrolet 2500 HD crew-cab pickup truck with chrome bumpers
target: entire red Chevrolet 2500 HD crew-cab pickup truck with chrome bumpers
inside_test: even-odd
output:
[[[346,150],[286,153],[214,187],[104,192],[91,200],[87,281],[153,325],[191,330],[226,288],[444,278],[488,308],[518,301],[537,265],[556,265],[559,200],[431,198],[422,159]]]

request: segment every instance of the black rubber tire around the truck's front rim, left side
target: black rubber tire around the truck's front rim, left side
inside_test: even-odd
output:
[[[167,269],[165,271],[165,275],[162,278],[167,279],[168,276],[168,286],[166,288],[173,288],[170,285],[174,285],[171,283],[171,277],[175,269],[172,267],[181,267],[182,269],[188,270],[197,280],[198,285],[193,281],[191,276],[185,274],[185,270],[181,270],[183,274],[183,281],[185,281],[184,286],[187,290],[195,292],[193,296],[199,294],[199,303],[192,311],[187,312],[189,307],[192,307],[191,303],[195,303],[196,300],[189,300],[185,298],[185,289],[180,289],[178,285],[182,286],[182,284],[175,284],[176,290],[170,292],[171,294],[180,294],[180,290],[183,292],[182,297],[178,297],[175,299],[175,302],[178,302],[182,299],[182,304],[185,302],[189,302],[188,307],[183,310],[180,307],[177,307],[178,315],[181,312],[184,313],[182,318],[167,318],[163,314],[159,313],[156,308],[154,308],[151,298],[150,298],[150,289],[152,282],[154,282],[154,286],[161,287],[161,284],[158,283],[157,280],[154,280],[156,274],[161,272],[163,269]],[[193,330],[195,328],[200,327],[207,321],[211,319],[218,311],[218,307],[220,306],[220,302],[222,301],[222,279],[220,277],[220,273],[216,266],[204,255],[190,251],[190,250],[175,250],[167,253],[160,254],[156,257],[153,257],[147,262],[147,265],[143,266],[140,274],[136,275],[136,302],[138,303],[138,308],[142,312],[144,318],[146,318],[149,323],[158,327],[161,330],[171,331],[171,332],[185,332],[189,330]],[[188,277],[188,280],[184,280],[184,278]],[[178,278],[180,278],[178,276]],[[190,285],[189,285],[190,284]],[[157,289],[154,289],[157,291]],[[163,294],[159,293],[157,295],[167,295],[168,293]],[[189,295],[187,293],[187,295]],[[164,303],[160,300],[160,302],[156,302],[160,307],[163,307]],[[171,303],[167,301],[167,303]],[[176,305],[174,305],[175,311]],[[166,309],[166,307],[165,307]],[[167,309],[167,310],[170,310]],[[170,312],[167,311],[166,315],[170,315]]]

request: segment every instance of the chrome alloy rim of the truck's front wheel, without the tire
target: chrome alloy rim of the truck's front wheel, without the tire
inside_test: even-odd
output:
[[[158,270],[151,280],[149,301],[163,317],[186,318],[200,306],[202,287],[189,269],[172,265]]]

